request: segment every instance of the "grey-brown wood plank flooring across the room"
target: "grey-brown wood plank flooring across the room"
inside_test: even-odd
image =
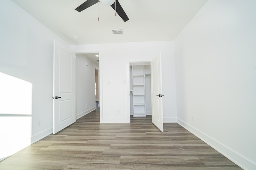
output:
[[[99,123],[98,109],[0,162],[0,170],[240,170],[177,123]]]

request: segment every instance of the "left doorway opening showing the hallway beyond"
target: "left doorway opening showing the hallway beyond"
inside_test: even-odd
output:
[[[99,53],[76,53],[76,118],[95,110],[99,101]],[[96,99],[97,97],[97,99]]]

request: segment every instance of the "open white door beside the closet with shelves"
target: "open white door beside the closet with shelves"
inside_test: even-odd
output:
[[[151,62],[151,107],[152,123],[160,131],[164,131],[163,104],[162,104],[162,63],[161,53]]]

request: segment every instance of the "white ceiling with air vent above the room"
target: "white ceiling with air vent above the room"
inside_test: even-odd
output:
[[[126,22],[100,2],[77,12],[86,0],[12,1],[70,45],[78,45],[174,40],[207,0],[118,0],[130,19]],[[113,35],[112,29],[124,29],[124,34]]]

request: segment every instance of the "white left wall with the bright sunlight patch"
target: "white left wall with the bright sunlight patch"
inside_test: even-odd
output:
[[[53,39],[67,44],[11,0],[0,25],[1,160],[52,133]]]

